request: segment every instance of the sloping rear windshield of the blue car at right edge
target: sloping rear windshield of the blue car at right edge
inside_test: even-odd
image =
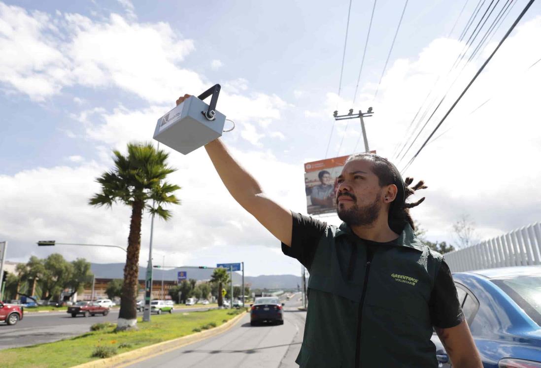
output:
[[[541,275],[491,279],[541,326]]]

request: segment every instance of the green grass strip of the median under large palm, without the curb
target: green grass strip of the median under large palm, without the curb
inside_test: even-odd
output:
[[[104,328],[54,343],[1,350],[0,362],[2,368],[71,367],[208,330],[243,312],[242,309],[210,310],[153,315],[150,323],[142,323],[138,318],[139,331],[129,332],[114,332],[113,324],[96,324]]]

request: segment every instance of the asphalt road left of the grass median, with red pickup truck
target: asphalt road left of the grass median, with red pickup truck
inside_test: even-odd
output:
[[[208,309],[207,307],[183,308],[173,313]],[[137,314],[142,316],[143,312]],[[160,318],[160,316],[153,314],[150,318]],[[0,350],[62,340],[90,331],[90,326],[95,323],[116,322],[117,319],[118,309],[111,309],[105,317],[98,314],[94,317],[73,318],[67,312],[25,313],[24,318],[15,326],[0,323]]]

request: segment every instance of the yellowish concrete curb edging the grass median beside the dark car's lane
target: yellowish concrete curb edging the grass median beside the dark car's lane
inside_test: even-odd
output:
[[[159,354],[179,349],[179,347],[193,344],[197,341],[208,339],[209,337],[213,337],[222,332],[226,332],[227,330],[235,326],[236,323],[240,321],[244,316],[246,316],[246,313],[239,314],[238,316],[235,316],[234,318],[227,321],[225,324],[211,328],[210,330],[196,332],[173,340],[162,341],[161,343],[127,351],[111,358],[93,360],[91,362],[72,366],[72,368],[124,367],[128,364],[136,363],[139,360],[147,360]]]

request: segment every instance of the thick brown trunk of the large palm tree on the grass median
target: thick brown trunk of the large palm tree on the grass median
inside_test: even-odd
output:
[[[134,201],[131,206],[130,234],[128,236],[128,254],[124,266],[124,284],[120,293],[120,313],[118,313],[117,331],[137,328],[137,285],[139,276],[139,251],[141,249],[141,218],[143,202]]]

